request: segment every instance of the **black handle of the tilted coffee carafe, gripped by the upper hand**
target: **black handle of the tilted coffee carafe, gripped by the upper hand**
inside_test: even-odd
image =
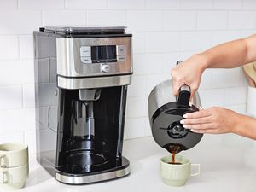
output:
[[[177,61],[176,65],[178,65],[181,62],[183,61]],[[177,107],[189,108],[190,95],[191,95],[191,91],[190,91],[189,85],[183,84],[178,90]]]

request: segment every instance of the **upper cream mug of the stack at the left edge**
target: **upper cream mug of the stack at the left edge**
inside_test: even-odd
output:
[[[0,168],[28,164],[28,147],[23,143],[0,144]]]

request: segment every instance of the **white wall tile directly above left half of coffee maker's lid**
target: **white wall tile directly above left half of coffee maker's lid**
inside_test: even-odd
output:
[[[44,10],[43,26],[85,26],[85,10]]]

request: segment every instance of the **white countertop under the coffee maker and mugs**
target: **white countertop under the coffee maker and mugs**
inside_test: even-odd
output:
[[[201,164],[201,175],[190,177],[183,187],[170,187],[161,181],[159,160],[168,153],[154,143],[152,137],[143,137],[124,143],[124,155],[131,162],[131,174],[128,177],[103,183],[67,185],[51,177],[31,155],[30,177],[26,187],[18,191],[256,191],[256,142],[252,140],[233,135],[207,135],[195,148],[180,154],[192,163]]]

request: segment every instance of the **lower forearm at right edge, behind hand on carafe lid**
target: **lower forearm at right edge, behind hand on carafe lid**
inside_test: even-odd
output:
[[[256,119],[241,115],[236,120],[233,132],[243,137],[256,140]]]

